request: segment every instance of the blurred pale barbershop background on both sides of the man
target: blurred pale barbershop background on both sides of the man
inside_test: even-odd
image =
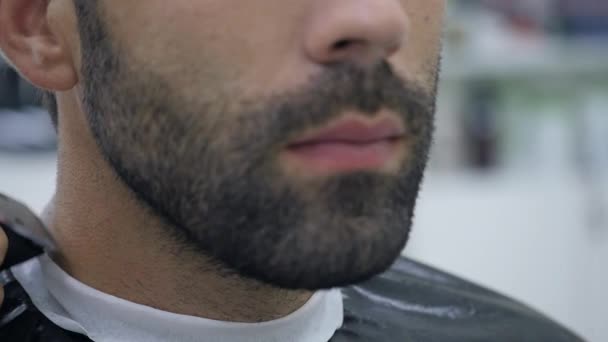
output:
[[[608,1],[450,0],[409,257],[608,341]],[[55,135],[0,60],[0,191],[41,210]]]

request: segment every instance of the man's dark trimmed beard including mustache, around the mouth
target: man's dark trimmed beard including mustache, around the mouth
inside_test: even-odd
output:
[[[428,159],[434,93],[400,79],[388,63],[344,63],[272,96],[206,96],[205,88],[221,85],[204,80],[201,95],[188,96],[174,85],[179,75],[130,62],[91,9],[79,13],[86,17],[82,96],[91,131],[119,179],[178,246],[228,273],[286,289],[357,283],[399,256]],[[407,127],[399,172],[305,181],[281,167],[294,136],[345,111],[374,116],[380,109]]]

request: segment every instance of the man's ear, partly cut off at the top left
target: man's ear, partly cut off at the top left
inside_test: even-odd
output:
[[[49,23],[55,0],[0,0],[0,50],[32,84],[65,91],[77,82],[72,55]]]

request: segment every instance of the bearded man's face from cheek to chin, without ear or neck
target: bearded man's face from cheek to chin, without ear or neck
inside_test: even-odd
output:
[[[95,139],[182,246],[307,289],[399,255],[431,141],[443,1],[74,1]]]

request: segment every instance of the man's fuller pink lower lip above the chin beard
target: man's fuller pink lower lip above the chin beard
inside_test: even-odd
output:
[[[386,139],[366,144],[326,142],[292,146],[288,158],[298,168],[320,173],[379,170],[396,158],[400,139]]]

